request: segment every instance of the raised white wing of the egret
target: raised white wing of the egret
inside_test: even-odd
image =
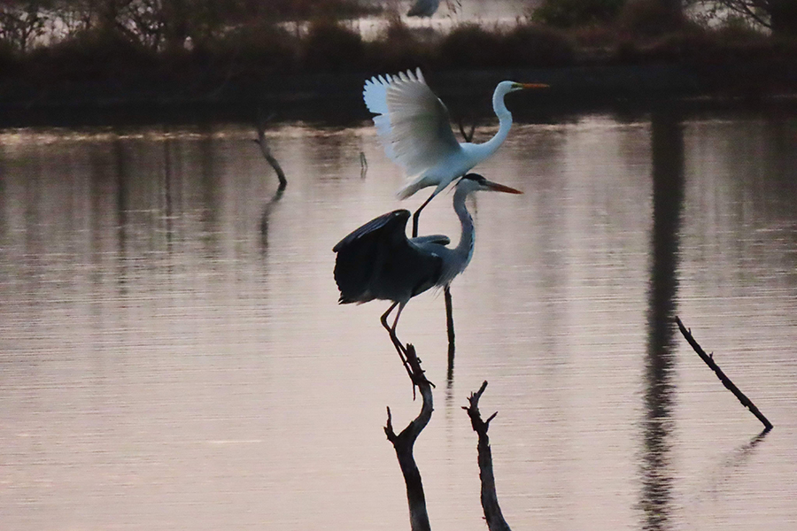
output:
[[[423,173],[460,150],[445,104],[423,80],[421,69],[366,81],[362,92],[374,112],[385,153],[407,176]]]

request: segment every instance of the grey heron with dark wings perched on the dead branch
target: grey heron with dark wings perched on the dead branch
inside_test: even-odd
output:
[[[407,210],[388,212],[368,221],[347,235],[332,249],[337,253],[335,281],[340,304],[368,303],[375,299],[393,301],[380,320],[406,366],[404,345],[396,335],[399,317],[409,300],[429,288],[444,288],[468,266],[473,256],[475,231],[465,200],[485,190],[522,194],[520,190],[468,173],[456,185],[453,209],[460,219],[460,242],[448,247],[445,235],[406,237]],[[396,307],[392,325],[388,317]],[[412,376],[412,375],[411,375]]]

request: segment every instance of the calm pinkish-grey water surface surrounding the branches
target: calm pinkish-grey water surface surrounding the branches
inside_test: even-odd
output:
[[[368,124],[287,124],[280,195],[251,137],[0,132],[4,529],[409,527],[383,425],[419,404],[387,304],[337,305],[331,251],[402,176]],[[516,529],[797,527],[797,116],[520,125],[480,170],[526,193],[470,204],[453,376],[440,294],[399,326],[437,383],[432,527],[484,527],[460,409],[484,380]],[[422,233],[456,239],[450,201]]]

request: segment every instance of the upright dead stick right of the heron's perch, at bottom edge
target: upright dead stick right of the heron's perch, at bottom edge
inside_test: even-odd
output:
[[[487,436],[490,421],[495,419],[498,412],[492,413],[487,420],[482,419],[482,414],[479,412],[479,398],[482,397],[484,389],[487,389],[486,380],[476,393],[471,393],[468,397],[468,407],[463,406],[462,409],[468,412],[470,425],[476,434],[479,435],[479,478],[482,480],[482,509],[484,510],[484,519],[487,520],[487,527],[490,531],[511,531],[507,520],[504,519],[504,515],[501,513],[498,494],[495,492],[492,451],[490,450],[490,437]]]

